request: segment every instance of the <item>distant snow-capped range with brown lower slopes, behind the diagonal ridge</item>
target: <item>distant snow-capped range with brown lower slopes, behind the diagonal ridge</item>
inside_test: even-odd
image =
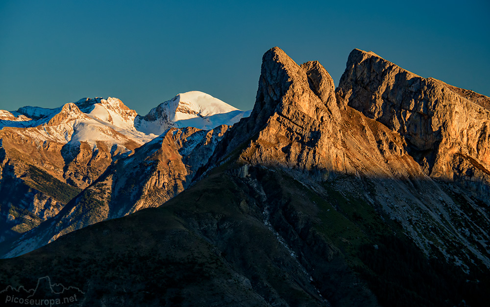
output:
[[[170,128],[185,123],[197,132],[249,114],[198,91],[178,94],[144,117],[111,97],[0,110],[0,242],[55,216],[111,163]]]

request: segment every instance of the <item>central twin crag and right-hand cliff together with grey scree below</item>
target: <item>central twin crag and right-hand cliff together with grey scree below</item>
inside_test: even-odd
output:
[[[369,60],[367,67],[352,64]],[[248,178],[248,166],[258,166],[281,169],[319,190],[331,182],[383,208],[427,254],[490,267],[486,243],[475,245],[457,227],[489,238],[481,226],[470,226],[475,224],[467,213],[478,212],[480,225],[490,227],[485,207],[473,198],[489,186],[484,181],[488,129],[481,128],[488,125],[488,110],[372,52],[354,51],[347,67],[334,93],[318,62],[299,66],[279,48],[267,51],[252,114],[225,134],[213,163],[238,155],[241,166],[232,174],[240,178]],[[451,106],[453,100],[459,109]],[[358,183],[343,182],[352,177]],[[454,242],[461,255],[448,253]]]

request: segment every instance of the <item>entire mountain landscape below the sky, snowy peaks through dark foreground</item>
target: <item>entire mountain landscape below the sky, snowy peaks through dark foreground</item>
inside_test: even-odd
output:
[[[251,112],[2,111],[0,281],[50,275],[76,306],[486,306],[489,102],[357,49],[335,88],[276,47]]]

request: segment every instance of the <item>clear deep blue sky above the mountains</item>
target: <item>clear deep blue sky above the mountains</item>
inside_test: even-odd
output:
[[[0,0],[0,109],[111,96],[145,115],[190,90],[251,109],[274,46],[336,85],[359,48],[490,96],[489,16],[489,0]]]

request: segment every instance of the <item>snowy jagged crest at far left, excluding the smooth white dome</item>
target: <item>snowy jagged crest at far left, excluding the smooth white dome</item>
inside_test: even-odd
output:
[[[117,145],[134,149],[155,137],[136,130],[136,116],[136,111],[117,98],[84,98],[53,109],[26,106],[13,112],[1,111],[0,129],[27,128],[18,131],[41,143],[86,142],[95,147],[103,142],[109,148]]]

